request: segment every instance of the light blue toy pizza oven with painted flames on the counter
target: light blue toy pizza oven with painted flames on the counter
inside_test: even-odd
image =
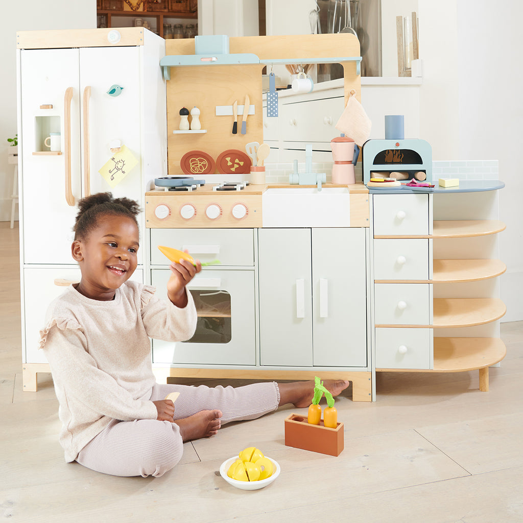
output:
[[[362,146],[363,183],[377,178],[432,183],[432,148],[425,140],[368,140]],[[378,182],[379,183],[379,182]],[[400,184],[396,184],[400,185]]]

